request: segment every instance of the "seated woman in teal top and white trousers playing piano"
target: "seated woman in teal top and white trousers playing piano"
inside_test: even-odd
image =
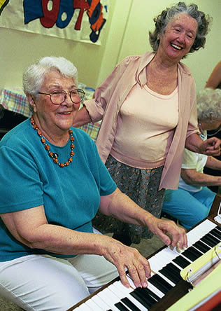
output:
[[[94,233],[98,209],[187,247],[185,230],[122,194],[94,141],[71,127],[84,95],[77,85],[64,57],[28,67],[23,86],[33,116],[0,142],[0,296],[24,310],[67,310],[118,274],[129,286],[127,268],[135,286],[147,286],[148,261]]]

